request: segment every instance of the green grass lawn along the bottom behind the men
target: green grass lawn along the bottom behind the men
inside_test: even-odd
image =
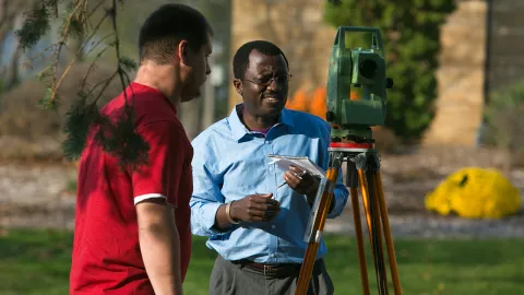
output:
[[[0,294],[68,294],[72,234],[10,231],[0,237]],[[361,294],[354,239],[327,236],[326,266],[335,294]],[[522,294],[524,239],[395,239],[403,293]],[[377,294],[369,248],[371,294]],[[207,294],[215,255],[194,237],[184,294]],[[391,285],[391,280],[390,280]],[[390,287],[393,294],[393,287]]]

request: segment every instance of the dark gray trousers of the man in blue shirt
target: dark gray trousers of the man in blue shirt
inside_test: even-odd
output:
[[[298,282],[298,272],[285,278],[273,278],[248,267],[231,263],[221,256],[210,279],[210,295],[294,295]],[[333,282],[325,269],[324,261],[314,263],[308,295],[332,295]]]

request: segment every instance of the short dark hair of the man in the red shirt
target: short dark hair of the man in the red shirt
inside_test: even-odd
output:
[[[140,61],[169,62],[182,39],[188,40],[192,50],[200,50],[207,42],[207,34],[213,35],[213,30],[198,10],[179,3],[164,4],[140,28]]]

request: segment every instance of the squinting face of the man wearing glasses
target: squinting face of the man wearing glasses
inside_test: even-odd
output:
[[[282,55],[266,56],[252,50],[243,81],[235,81],[243,98],[245,111],[257,117],[277,116],[286,105],[288,74]]]

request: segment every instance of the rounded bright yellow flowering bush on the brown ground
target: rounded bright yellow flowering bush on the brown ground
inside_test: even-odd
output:
[[[468,219],[498,219],[515,214],[521,197],[496,169],[467,167],[450,175],[426,196],[426,209],[441,215],[455,212]]]

